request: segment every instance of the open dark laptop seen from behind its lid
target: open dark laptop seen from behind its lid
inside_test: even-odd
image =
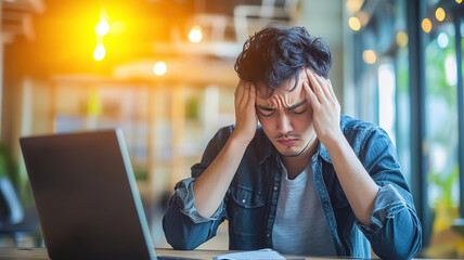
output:
[[[119,129],[20,143],[51,259],[156,259]]]

